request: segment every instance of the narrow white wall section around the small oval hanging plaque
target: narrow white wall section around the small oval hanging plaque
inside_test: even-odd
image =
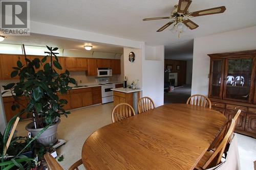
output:
[[[129,61],[129,53],[134,52],[135,61]],[[128,85],[133,81],[139,80],[136,87],[142,88],[142,49],[123,48],[124,76],[128,78]]]

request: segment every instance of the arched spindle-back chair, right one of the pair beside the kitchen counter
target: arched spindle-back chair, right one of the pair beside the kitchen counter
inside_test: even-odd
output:
[[[127,117],[135,115],[133,107],[127,103],[120,103],[112,111],[112,122],[118,122]]]

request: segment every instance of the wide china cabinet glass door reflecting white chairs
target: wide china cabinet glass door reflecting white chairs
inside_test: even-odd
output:
[[[253,59],[227,59],[226,62],[224,98],[248,102]]]

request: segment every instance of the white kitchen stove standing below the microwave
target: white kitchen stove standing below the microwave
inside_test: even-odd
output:
[[[115,88],[116,85],[113,83],[109,83],[109,78],[98,78],[96,79],[96,83],[101,85],[101,98],[102,104],[109,103],[114,101],[112,88]]]

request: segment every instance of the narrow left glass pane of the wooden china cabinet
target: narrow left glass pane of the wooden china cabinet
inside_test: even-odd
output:
[[[221,76],[223,60],[212,60],[211,62],[210,97],[221,98]]]

